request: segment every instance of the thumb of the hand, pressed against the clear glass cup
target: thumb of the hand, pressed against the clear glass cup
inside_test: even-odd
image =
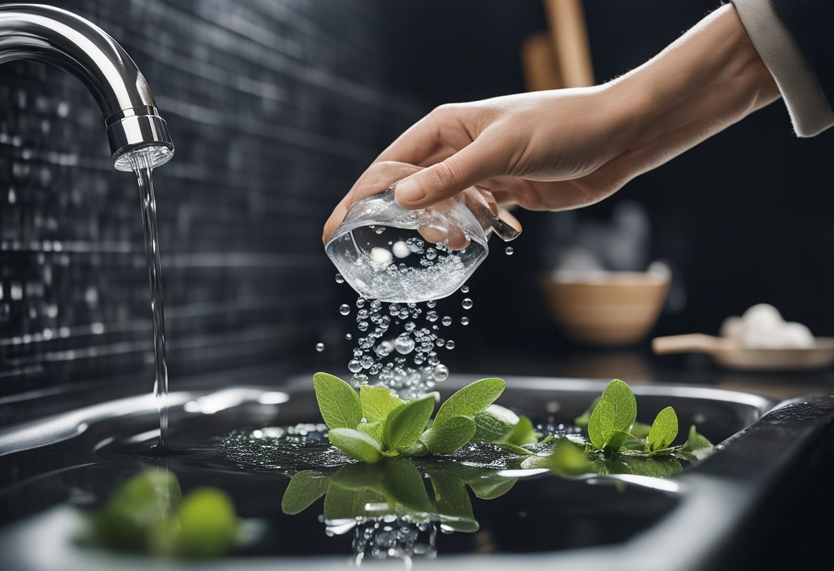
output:
[[[396,184],[394,196],[409,210],[427,208],[500,174],[484,144],[465,146],[440,163],[420,170]]]

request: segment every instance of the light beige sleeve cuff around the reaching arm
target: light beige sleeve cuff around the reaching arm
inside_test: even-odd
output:
[[[811,63],[770,0],[732,1],[753,47],[776,80],[796,136],[813,137],[834,125],[834,110]]]

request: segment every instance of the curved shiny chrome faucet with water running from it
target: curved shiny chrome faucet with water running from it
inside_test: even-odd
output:
[[[43,4],[0,6],[0,63],[34,59],[66,69],[98,103],[113,167],[133,170],[128,153],[146,149],[151,166],[167,163],[173,143],[153,93],[133,59],[101,28]]]

